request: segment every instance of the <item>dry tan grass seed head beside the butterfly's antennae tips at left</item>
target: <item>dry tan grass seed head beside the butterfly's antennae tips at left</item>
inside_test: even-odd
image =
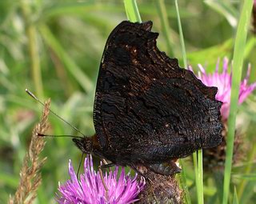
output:
[[[50,100],[46,102],[43,110],[42,120],[34,127],[29,150],[22,163],[20,181],[14,197],[9,200],[10,204],[32,203],[36,198],[36,191],[41,183],[40,170],[46,162],[46,158],[39,159],[39,154],[45,146],[44,138],[38,137],[37,133],[45,133],[48,128],[47,118],[50,113]]]

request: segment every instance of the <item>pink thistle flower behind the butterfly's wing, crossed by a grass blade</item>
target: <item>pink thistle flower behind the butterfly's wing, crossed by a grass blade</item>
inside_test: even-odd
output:
[[[230,94],[231,94],[231,82],[232,71],[228,73],[228,58],[223,59],[222,73],[218,73],[219,62],[216,65],[216,70],[213,74],[206,74],[206,70],[201,64],[198,64],[200,71],[198,72],[198,79],[200,79],[206,86],[218,87],[218,93],[216,99],[223,102],[221,108],[222,118],[226,120],[230,114]],[[189,67],[192,70],[192,67]],[[193,71],[194,72],[194,71]],[[248,85],[248,79],[250,77],[250,65],[248,66],[246,78],[240,83],[238,103],[241,104],[256,88],[256,82]]]

